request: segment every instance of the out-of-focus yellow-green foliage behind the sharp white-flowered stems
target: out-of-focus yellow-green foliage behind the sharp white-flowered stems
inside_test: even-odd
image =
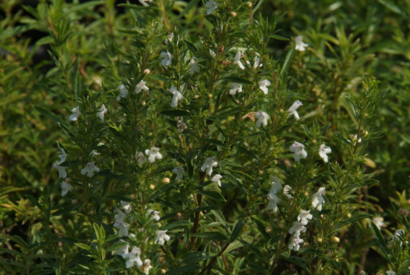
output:
[[[172,10],[165,27],[177,26],[198,42],[198,33],[209,24],[201,14],[203,4],[162,3],[164,11]],[[379,200],[375,211],[391,209],[389,198],[410,210],[402,193],[410,183],[410,1],[279,0],[253,5],[263,16],[280,15],[277,29],[283,38],[303,35],[309,44],[311,58],[306,62],[296,52],[287,82],[313,106],[305,120],[331,122],[331,130],[340,131],[341,118],[353,118],[345,94],[356,92],[362,76],[374,76],[381,89],[388,88],[374,121],[380,138],[367,147],[366,169],[379,185],[365,192]],[[126,78],[125,56],[139,45],[132,27],[155,24],[145,22],[143,15],[158,11],[128,9],[125,2],[112,0],[4,0],[0,11],[0,233],[20,236],[14,243],[23,247],[40,218],[24,194],[39,197],[47,187],[52,199],[60,198],[52,163],[56,141],[66,140],[50,118],[68,117],[74,99],[87,87],[118,86]],[[285,39],[271,40],[267,47],[281,64],[289,49]],[[334,150],[336,160],[343,162],[343,154]]]

